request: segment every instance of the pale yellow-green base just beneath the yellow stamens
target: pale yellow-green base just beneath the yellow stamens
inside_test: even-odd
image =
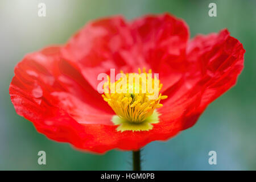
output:
[[[117,131],[148,131],[153,128],[153,125],[159,122],[159,113],[154,110],[154,112],[146,120],[140,123],[134,123],[127,121],[126,119],[119,118],[118,115],[114,115],[112,118],[114,125],[119,125]]]

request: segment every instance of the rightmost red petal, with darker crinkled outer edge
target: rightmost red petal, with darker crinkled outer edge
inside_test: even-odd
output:
[[[187,48],[188,72],[164,93],[169,100],[160,109],[161,119],[180,119],[183,130],[193,126],[210,102],[236,84],[244,53],[228,30],[196,36]]]

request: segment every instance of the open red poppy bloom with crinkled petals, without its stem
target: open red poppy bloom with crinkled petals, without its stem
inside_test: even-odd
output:
[[[169,14],[89,22],[64,46],[30,53],[16,65],[11,101],[39,133],[80,150],[138,150],[170,139],[193,126],[243,68],[245,49],[228,30],[188,40],[187,24]],[[154,102],[133,94],[102,98],[97,76],[109,75],[112,68],[115,73],[138,73],[138,68],[159,73],[159,97]],[[132,104],[136,109],[126,109]],[[127,117],[134,119],[134,129],[122,123]],[[137,121],[146,128],[136,128]]]

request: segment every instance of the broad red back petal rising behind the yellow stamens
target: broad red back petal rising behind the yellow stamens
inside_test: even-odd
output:
[[[145,67],[159,73],[164,90],[184,72],[188,37],[185,22],[169,14],[148,15],[131,23],[116,16],[86,24],[69,40],[63,55],[94,89],[98,74],[109,75],[111,68],[117,74]]]

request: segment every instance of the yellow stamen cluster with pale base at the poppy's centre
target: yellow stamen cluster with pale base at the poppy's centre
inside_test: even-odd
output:
[[[167,96],[159,94],[160,84],[158,74],[152,78],[151,69],[148,73],[138,69],[138,73],[126,73],[122,71],[117,75],[115,82],[104,83],[104,101],[114,110],[112,122],[118,131],[148,131],[152,129],[151,123],[158,123],[158,113],[155,109],[162,107],[160,100]]]

